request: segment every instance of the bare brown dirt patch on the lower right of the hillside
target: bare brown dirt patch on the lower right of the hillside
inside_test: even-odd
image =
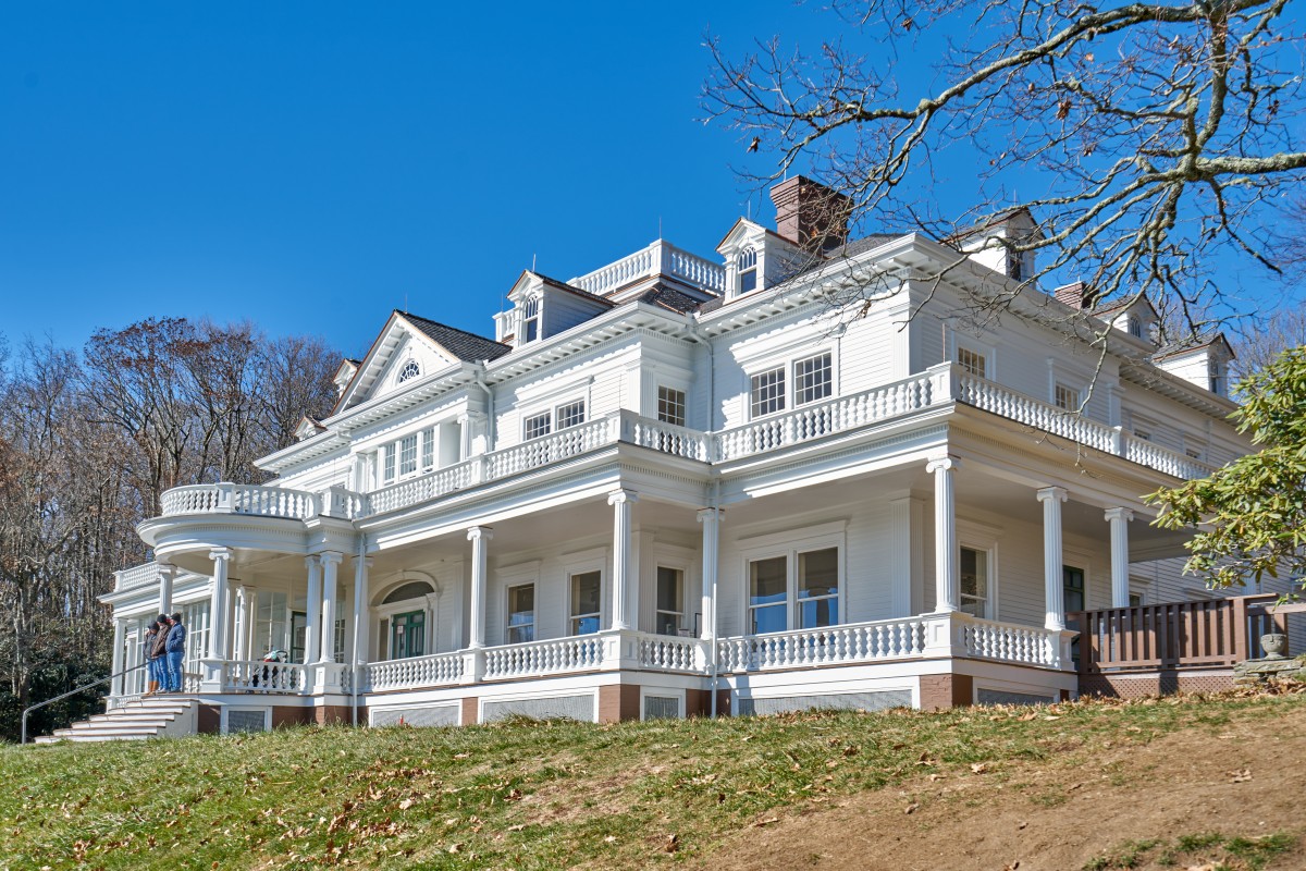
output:
[[[1306,867],[1306,710],[1268,722],[1187,729],[1145,744],[1107,744],[1067,746],[1066,756],[1051,761],[931,773],[835,807],[768,815],[722,842],[703,866],[1067,871],[1096,862],[1102,868],[1183,868],[1218,855],[1183,853],[1178,866],[1160,864],[1174,858],[1157,855],[1158,849],[1136,866],[1104,863],[1104,857],[1127,842],[1286,832],[1294,846],[1263,867]]]

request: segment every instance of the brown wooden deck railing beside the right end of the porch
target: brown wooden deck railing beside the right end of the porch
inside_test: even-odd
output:
[[[1259,639],[1282,624],[1266,610],[1276,595],[1075,611],[1080,674],[1233,666],[1260,656]]]

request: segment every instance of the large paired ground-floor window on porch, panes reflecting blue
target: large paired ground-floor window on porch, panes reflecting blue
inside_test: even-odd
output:
[[[838,554],[838,547],[823,547],[750,562],[752,633],[837,624]]]

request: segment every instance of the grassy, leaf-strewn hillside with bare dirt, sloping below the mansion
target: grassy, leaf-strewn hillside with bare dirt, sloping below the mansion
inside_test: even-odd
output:
[[[0,868],[1306,867],[1303,761],[1303,695],[10,746]]]

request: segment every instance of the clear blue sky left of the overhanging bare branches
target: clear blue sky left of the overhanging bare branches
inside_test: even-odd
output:
[[[393,307],[492,332],[521,269],[710,253],[767,170],[704,125],[708,26],[789,3],[0,10],[0,333],[252,319],[360,353]],[[756,212],[759,206],[754,205]],[[771,219],[771,205],[764,215]]]

